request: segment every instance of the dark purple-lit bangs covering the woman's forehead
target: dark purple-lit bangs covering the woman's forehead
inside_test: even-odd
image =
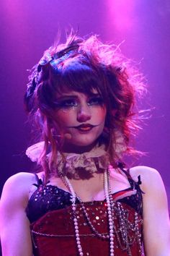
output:
[[[56,93],[74,90],[79,93],[91,94],[95,89],[102,95],[102,82],[97,73],[86,64],[71,61],[71,64],[65,64],[64,67],[59,68],[57,77]]]

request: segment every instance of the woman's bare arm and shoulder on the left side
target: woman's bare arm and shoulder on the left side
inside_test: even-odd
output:
[[[25,208],[32,174],[19,173],[10,177],[1,196],[0,235],[3,256],[31,256],[30,222]]]

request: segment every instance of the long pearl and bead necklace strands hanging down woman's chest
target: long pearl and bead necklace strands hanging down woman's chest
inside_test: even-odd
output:
[[[84,211],[84,215],[86,216],[86,220],[89,223],[89,226],[91,227],[92,231],[96,236],[99,236],[100,238],[103,239],[109,239],[109,249],[110,249],[110,256],[114,256],[114,202],[112,200],[112,191],[111,191],[111,185],[110,185],[110,179],[109,179],[109,170],[104,171],[104,194],[105,198],[107,201],[107,215],[108,215],[108,220],[109,220],[109,236],[108,235],[102,235],[99,234],[99,232],[94,228],[92,225],[89,215],[86,211],[86,208],[84,207],[84,203],[80,199],[79,196],[76,195],[76,192],[74,192],[73,187],[71,185],[71,182],[69,182],[67,176],[63,176],[61,173],[59,173],[61,176],[61,179],[63,180],[64,184],[66,184],[66,187],[71,192],[71,202],[72,202],[72,210],[73,210],[73,223],[74,223],[74,229],[75,229],[75,234],[76,234],[76,244],[77,248],[79,251],[79,255],[83,256],[83,249],[81,247],[81,241],[80,241],[80,234],[79,234],[79,225],[78,225],[78,220],[76,218],[76,198],[79,199],[81,202],[82,209]]]

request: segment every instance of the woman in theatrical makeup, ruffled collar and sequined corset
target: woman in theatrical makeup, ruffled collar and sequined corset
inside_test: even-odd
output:
[[[115,46],[70,35],[34,67],[24,101],[39,124],[37,174],[4,185],[4,256],[168,256],[166,192],[153,168],[125,168],[143,82]],[[134,110],[135,109],[135,110]],[[157,197],[159,195],[159,197]]]

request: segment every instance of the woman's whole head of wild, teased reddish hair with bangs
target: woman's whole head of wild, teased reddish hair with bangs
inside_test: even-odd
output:
[[[39,162],[46,176],[53,174],[62,144],[58,124],[53,120],[56,93],[76,90],[89,94],[93,89],[107,106],[100,139],[107,142],[111,163],[121,158],[120,151],[134,153],[128,145],[130,136],[139,129],[136,99],[146,90],[143,77],[122,56],[119,47],[102,43],[97,35],[85,40],[71,33],[65,44],[55,43],[33,67],[24,96],[27,112],[40,124],[41,139],[45,141]]]

